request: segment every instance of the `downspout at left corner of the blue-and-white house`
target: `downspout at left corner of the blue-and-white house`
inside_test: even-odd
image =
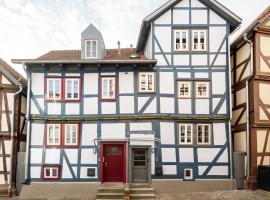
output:
[[[27,103],[26,103],[26,122],[27,122],[27,131],[26,131],[26,155],[25,155],[25,181],[27,183],[29,180],[29,154],[30,154],[30,120],[29,120],[29,113],[30,113],[30,77],[26,70],[26,65],[23,64],[23,69],[27,76]]]

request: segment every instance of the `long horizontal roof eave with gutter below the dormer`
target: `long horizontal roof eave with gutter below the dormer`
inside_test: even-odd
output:
[[[157,60],[36,60],[12,59],[14,64],[156,64]]]

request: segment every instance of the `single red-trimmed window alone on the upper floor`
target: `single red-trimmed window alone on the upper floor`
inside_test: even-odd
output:
[[[110,82],[110,80],[112,80],[113,82],[113,86],[112,88],[110,88],[110,85],[107,84],[107,89],[106,91],[107,94],[104,94],[104,80],[107,80],[108,82]],[[112,89],[112,90],[111,90]],[[103,76],[101,77],[101,100],[115,100],[116,99],[116,77],[115,76]],[[113,95],[110,96],[109,93],[113,92]]]

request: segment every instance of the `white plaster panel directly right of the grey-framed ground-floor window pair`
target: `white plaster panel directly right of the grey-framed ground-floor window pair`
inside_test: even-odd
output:
[[[225,123],[214,123],[213,124],[213,136],[214,145],[224,145],[226,139],[226,126]]]

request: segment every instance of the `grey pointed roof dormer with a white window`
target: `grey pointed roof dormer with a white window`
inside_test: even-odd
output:
[[[90,24],[81,34],[81,59],[103,59],[105,55],[102,34]]]

